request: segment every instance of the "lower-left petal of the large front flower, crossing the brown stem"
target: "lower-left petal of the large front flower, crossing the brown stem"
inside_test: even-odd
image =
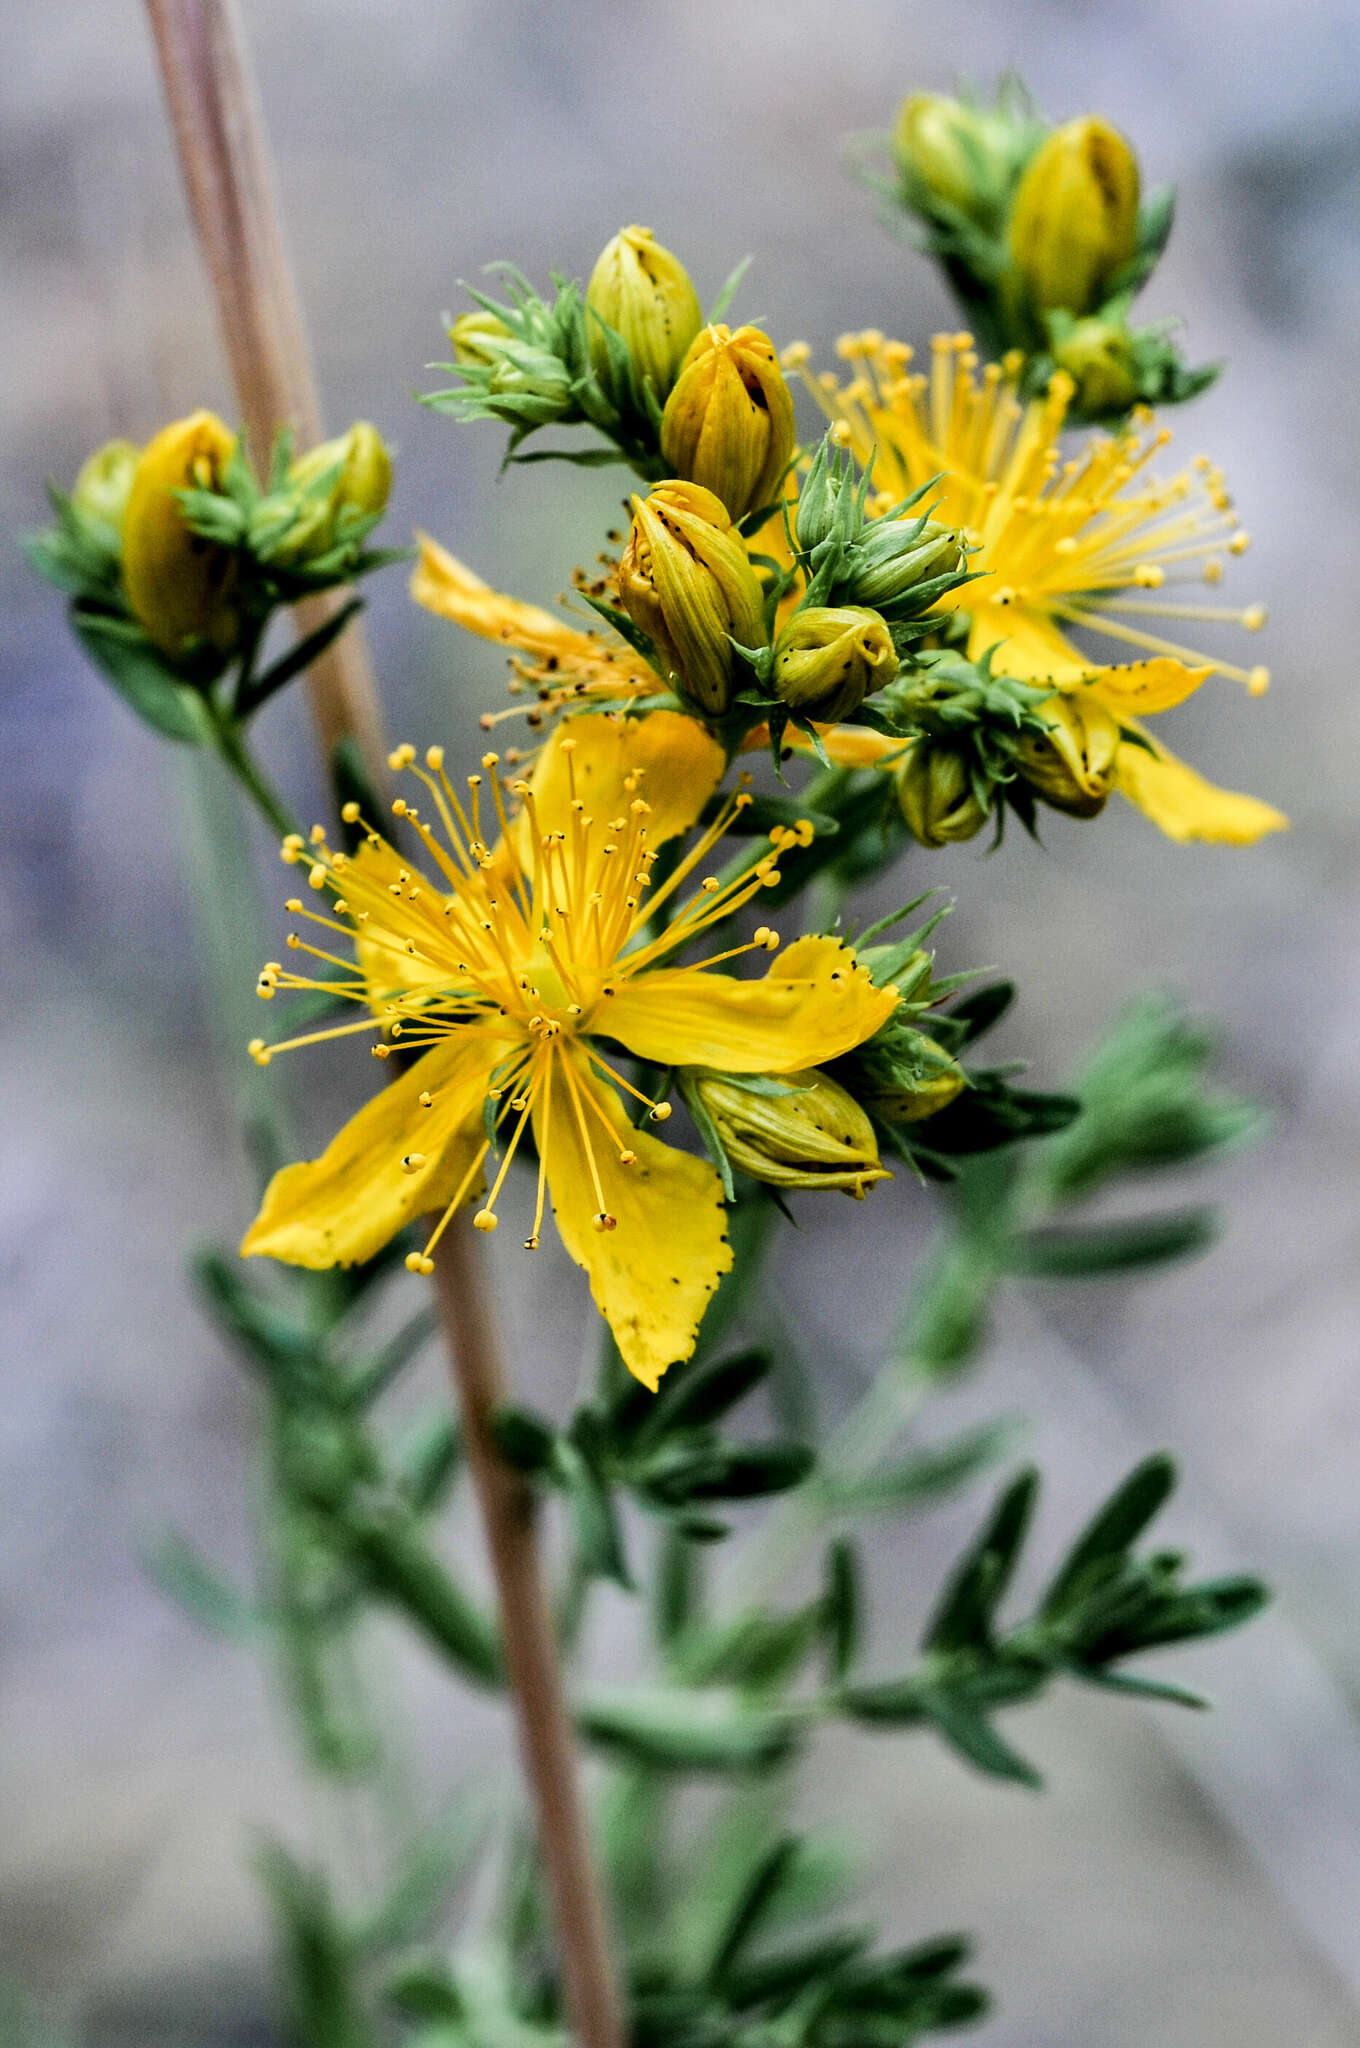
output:
[[[242,1255],[287,1266],[356,1266],[430,1208],[451,1202],[481,1143],[481,1104],[504,1042],[453,1032],[326,1147],[270,1180]],[[420,1096],[430,1094],[430,1108]],[[403,1157],[424,1155],[406,1171]]]

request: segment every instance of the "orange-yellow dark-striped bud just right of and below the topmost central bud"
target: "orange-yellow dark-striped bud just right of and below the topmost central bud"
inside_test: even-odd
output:
[[[662,414],[662,455],[733,520],[774,500],[795,451],[793,393],[760,328],[703,328]]]

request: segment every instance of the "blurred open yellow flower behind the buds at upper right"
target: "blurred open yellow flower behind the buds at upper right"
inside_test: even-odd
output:
[[[979,371],[967,334],[936,336],[928,377],[911,371],[903,342],[877,332],[846,336],[840,352],[856,365],[852,381],[827,373],[805,383],[856,461],[875,457],[879,504],[938,479],[936,516],[965,530],[975,549],[969,567],[987,578],[938,606],[969,614],[969,655],[995,647],[997,674],[1051,684],[1088,719],[1106,713],[1118,731],[1114,788],[1170,838],[1247,846],[1286,825],[1272,805],[1215,788],[1137,723],[1213,674],[1245,682],[1253,696],[1270,682],[1264,668],[1149,631],[1161,618],[1264,625],[1258,604],[1231,610],[1176,596],[1186,582],[1217,584],[1225,555],[1247,547],[1221,473],[1198,457],[1174,477],[1153,477],[1149,463],[1170,436],[1147,412],[1118,434],[1092,434],[1065,461],[1057,436],[1071,379],[1055,377],[1047,397],[1024,403],[1020,360]],[[1069,637],[1073,627],[1143,659],[1098,662]]]

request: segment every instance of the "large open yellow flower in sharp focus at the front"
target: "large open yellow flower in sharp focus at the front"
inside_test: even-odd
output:
[[[533,1128],[539,1186],[526,1247],[539,1245],[551,1194],[561,1241],[586,1268],[623,1358],[655,1386],[690,1356],[731,1266],[721,1182],[705,1159],[629,1122],[621,1092],[645,1104],[651,1124],[670,1116],[670,1104],[641,1096],[602,1042],[662,1067],[791,1073],[873,1036],[897,991],[875,989],[834,938],[795,940],[760,981],[711,971],[739,952],[774,950],[778,938],[766,926],[750,946],[672,965],[678,948],[776,881],[776,850],[793,836],[780,834],[739,881],[705,877],[692,887],[750,801],[729,797],[651,887],[660,848],[694,823],[723,774],[721,748],[692,719],[573,719],[543,750],[533,780],[512,784],[522,805],[514,819],[494,754],[483,758],[485,776],[469,776],[463,793],[444,774],[440,748],[424,768],[414,748],[401,748],[393,766],[410,768],[430,797],[432,823],[403,801],[393,805],[424,850],[426,872],[373,829],[352,856],[334,852],[320,827],[311,844],[287,840],[285,860],[305,866],[309,887],[332,897],[330,915],[307,911],[301,897],[289,903],[293,915],[332,934],[317,946],[291,934],[289,946],[346,973],[317,983],[270,963],[260,993],[322,985],[363,1010],[352,1024],[287,1044],[381,1032],[379,1059],[420,1057],[320,1159],[274,1176],[242,1251],[348,1266],[432,1212],[424,1251],[408,1257],[414,1272],[428,1272],[436,1239],[487,1176],[473,1221],[496,1229],[510,1161]],[[487,795],[494,819],[481,815]],[[356,821],[356,807],[346,813]],[[483,836],[487,823],[500,829],[496,850]],[[670,924],[655,934],[662,907]],[[338,940],[354,948],[352,971]],[[252,1044],[262,1063],[274,1051]]]

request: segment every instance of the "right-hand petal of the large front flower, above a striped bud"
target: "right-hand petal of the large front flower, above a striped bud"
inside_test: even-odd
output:
[[[897,1008],[838,938],[795,938],[764,981],[657,967],[602,995],[592,1030],[664,1067],[793,1073],[873,1038]]]

